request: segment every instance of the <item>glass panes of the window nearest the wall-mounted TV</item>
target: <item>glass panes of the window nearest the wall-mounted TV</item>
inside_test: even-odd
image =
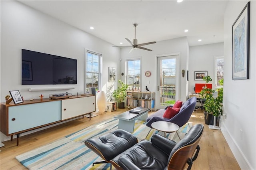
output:
[[[99,53],[86,51],[86,92],[89,91],[89,87],[95,87],[96,91],[99,90],[101,57],[102,55]]]

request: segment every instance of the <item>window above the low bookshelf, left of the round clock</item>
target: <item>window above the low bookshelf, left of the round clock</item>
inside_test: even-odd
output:
[[[126,60],[126,84],[128,89],[141,89],[140,87],[140,59]]]

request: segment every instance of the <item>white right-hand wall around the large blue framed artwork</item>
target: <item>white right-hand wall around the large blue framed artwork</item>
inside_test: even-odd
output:
[[[226,138],[241,169],[256,169],[256,1],[250,12],[250,79],[232,80],[232,24],[247,1],[229,1],[224,14],[224,92]],[[242,132],[241,132],[242,130]]]

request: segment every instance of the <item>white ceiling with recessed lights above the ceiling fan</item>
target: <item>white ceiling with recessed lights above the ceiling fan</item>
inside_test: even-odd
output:
[[[186,36],[190,46],[223,42],[224,0],[28,0],[20,2],[113,45]],[[94,30],[90,30],[90,26]],[[188,29],[188,32],[184,30]],[[198,42],[202,39],[201,42]],[[146,47],[146,46],[144,46]]]

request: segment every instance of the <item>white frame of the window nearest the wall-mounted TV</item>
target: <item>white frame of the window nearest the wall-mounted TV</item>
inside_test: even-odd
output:
[[[88,53],[92,54],[92,55],[97,55],[98,56],[98,72],[94,72],[94,71],[87,71],[87,57],[88,57]],[[98,74],[98,90],[101,90],[101,75],[102,75],[102,54],[92,51],[92,50],[88,50],[86,49],[85,51],[85,75],[84,75],[84,93],[88,93],[87,90],[87,84],[86,84],[86,80],[87,80],[87,73],[93,73],[93,74]],[[89,87],[88,87],[89,88]],[[96,89],[97,91],[97,89]]]

